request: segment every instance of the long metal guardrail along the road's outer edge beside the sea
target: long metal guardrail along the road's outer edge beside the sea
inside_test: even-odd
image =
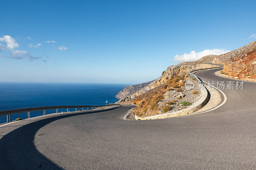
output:
[[[101,106],[45,106],[45,107],[29,107],[29,108],[21,108],[21,109],[10,109],[10,110],[0,110],[0,116],[7,115],[7,123],[10,122],[10,115],[16,114],[16,113],[25,113],[28,112],[28,118],[30,118],[30,112],[31,111],[39,111],[39,110],[44,110],[45,115],[45,110],[50,110],[50,109],[56,109],[56,113],[58,113],[58,109],[68,109],[70,108],[82,108],[82,111],[88,111],[89,108],[92,108],[92,110],[97,110],[97,109],[105,109],[105,108],[110,108],[110,107],[115,107],[115,106],[122,106],[121,104],[108,104],[108,105],[101,105]],[[84,108],[87,108],[87,110],[84,110]],[[94,109],[93,109],[94,108]]]

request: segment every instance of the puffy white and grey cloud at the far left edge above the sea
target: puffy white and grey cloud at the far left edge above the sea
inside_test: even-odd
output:
[[[11,54],[10,56],[1,56],[1,57],[6,57],[6,58],[11,58],[15,60],[36,60],[41,58],[39,57],[33,57],[30,55],[27,51],[22,51],[22,50],[15,50],[15,48],[19,47],[19,44],[9,35],[4,35],[2,38],[0,37],[0,41],[4,42],[6,45],[0,43],[0,51],[9,51]]]

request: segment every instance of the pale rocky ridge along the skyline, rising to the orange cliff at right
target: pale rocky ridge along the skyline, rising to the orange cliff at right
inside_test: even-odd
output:
[[[169,66],[162,75],[152,81],[148,85],[138,89],[136,92],[131,91],[125,92],[122,94],[122,91],[119,92],[120,96],[126,96],[119,102],[128,102],[133,101],[136,96],[145,94],[149,90],[155,89],[160,85],[163,85],[167,80],[175,78],[178,75],[183,75],[187,73],[187,69],[190,70],[206,68],[206,67],[216,67],[215,65],[205,65],[203,63],[214,63],[214,64],[224,64],[224,71],[226,74],[235,75],[235,76],[251,76],[252,78],[256,77],[255,75],[255,51],[256,51],[256,41],[251,42],[245,46],[242,46],[236,50],[230,51],[221,55],[207,55],[196,61],[182,62],[175,66]],[[254,76],[255,75],[255,76]],[[133,94],[132,94],[133,93]],[[121,98],[121,97],[120,97]],[[136,97],[138,98],[138,97]]]

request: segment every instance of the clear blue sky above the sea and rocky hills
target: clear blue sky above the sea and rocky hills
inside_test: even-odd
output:
[[[256,40],[255,1],[3,1],[1,6],[1,81],[136,84],[180,61]]]

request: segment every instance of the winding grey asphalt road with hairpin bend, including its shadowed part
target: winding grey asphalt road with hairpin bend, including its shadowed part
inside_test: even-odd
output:
[[[196,73],[204,81],[234,81]],[[0,127],[0,169],[256,169],[256,83],[210,112],[132,121],[132,106]]]

